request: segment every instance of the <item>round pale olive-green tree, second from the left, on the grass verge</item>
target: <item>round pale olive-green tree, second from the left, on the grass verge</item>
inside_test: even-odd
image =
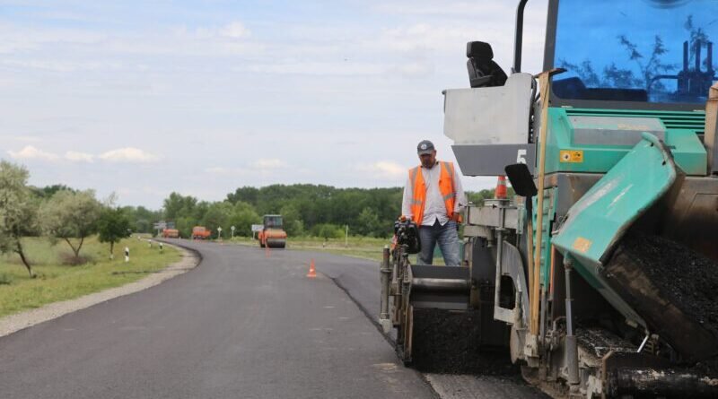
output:
[[[84,239],[96,231],[102,205],[92,190],[58,191],[40,207],[40,224],[50,239],[63,239],[80,257]],[[73,243],[72,239],[77,242]]]

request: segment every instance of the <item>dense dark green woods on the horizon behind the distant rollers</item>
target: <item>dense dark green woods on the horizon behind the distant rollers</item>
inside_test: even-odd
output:
[[[287,234],[294,237],[342,238],[348,227],[350,235],[388,238],[401,213],[403,194],[403,187],[243,186],[214,203],[171,193],[164,200],[162,215],[175,222],[182,237],[189,237],[196,225],[212,231],[234,226],[235,235],[250,236],[251,225],[261,223],[262,215],[281,214]],[[467,192],[467,196],[469,202],[482,204],[494,197],[494,190]]]

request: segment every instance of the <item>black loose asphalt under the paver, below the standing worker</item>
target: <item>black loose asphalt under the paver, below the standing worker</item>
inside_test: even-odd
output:
[[[413,367],[425,373],[517,376],[508,348],[480,346],[478,311],[414,309]]]

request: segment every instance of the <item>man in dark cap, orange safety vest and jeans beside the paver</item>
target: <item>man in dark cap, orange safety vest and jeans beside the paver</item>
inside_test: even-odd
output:
[[[432,265],[433,248],[439,244],[444,263],[459,266],[460,212],[467,200],[459,174],[451,162],[436,160],[433,143],[424,140],[416,147],[421,165],[409,169],[401,213],[419,226],[419,265]]]

